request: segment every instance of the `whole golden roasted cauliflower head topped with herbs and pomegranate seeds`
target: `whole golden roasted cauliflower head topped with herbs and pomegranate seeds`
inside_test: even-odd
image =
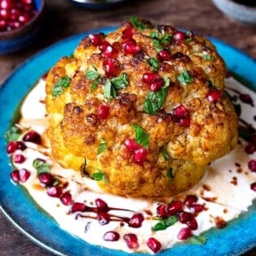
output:
[[[132,18],[46,78],[55,160],[108,193],[171,196],[237,141],[223,59],[205,37]]]

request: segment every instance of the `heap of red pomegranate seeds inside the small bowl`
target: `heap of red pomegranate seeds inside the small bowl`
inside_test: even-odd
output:
[[[22,27],[36,13],[32,0],[0,0],[0,32]]]

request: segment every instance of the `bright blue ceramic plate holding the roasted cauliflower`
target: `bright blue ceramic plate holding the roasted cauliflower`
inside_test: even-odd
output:
[[[102,28],[108,33],[114,28]],[[98,33],[99,30],[89,33]],[[87,33],[88,34],[88,33]],[[79,34],[50,46],[23,63],[0,89],[0,208],[21,232],[50,252],[59,255],[128,255],[124,252],[89,245],[63,231],[19,185],[9,179],[11,167],[3,134],[11,123],[20,100],[40,76],[64,55],[72,54],[79,41],[87,34]],[[228,69],[236,72],[256,90],[256,63],[241,51],[210,38],[225,59]],[[244,215],[228,223],[227,228],[212,229],[205,233],[206,245],[176,245],[158,255],[237,255],[256,246],[256,204]],[[145,254],[132,254],[133,256]]]

